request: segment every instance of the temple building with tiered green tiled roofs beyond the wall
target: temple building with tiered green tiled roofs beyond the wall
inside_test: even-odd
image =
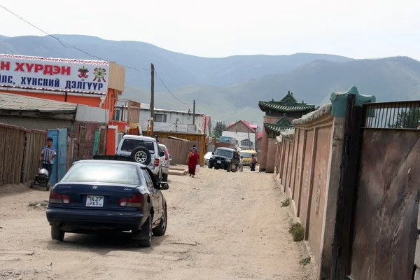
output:
[[[261,111],[265,112],[264,128],[262,130],[261,153],[258,161],[260,172],[273,173],[276,155],[276,137],[283,130],[294,129],[292,121],[302,118],[311,111],[315,111],[315,105],[297,102],[293,92],[288,92],[280,101],[258,102]]]

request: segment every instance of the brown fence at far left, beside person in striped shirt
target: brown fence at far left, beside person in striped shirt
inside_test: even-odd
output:
[[[0,123],[0,186],[23,183],[38,170],[46,132]]]

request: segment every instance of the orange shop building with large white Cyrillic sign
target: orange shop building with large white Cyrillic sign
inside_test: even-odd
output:
[[[113,118],[124,88],[125,68],[115,62],[0,54],[0,92],[107,110],[107,154],[115,153],[119,131],[139,123],[139,114],[125,122]]]

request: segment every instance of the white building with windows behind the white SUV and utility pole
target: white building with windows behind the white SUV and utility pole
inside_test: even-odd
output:
[[[154,130],[155,131],[169,131],[172,132],[190,132],[190,133],[202,133],[202,115],[195,115],[195,125],[193,125],[193,113],[184,113],[179,111],[165,111],[156,110],[155,114],[164,114],[167,116],[166,123],[157,122],[155,120]],[[140,109],[140,125],[146,130],[147,120],[151,118],[150,109]],[[178,124],[176,125],[176,118],[178,118]]]

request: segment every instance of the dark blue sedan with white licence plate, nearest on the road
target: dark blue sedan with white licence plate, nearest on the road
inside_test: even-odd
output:
[[[162,236],[167,230],[161,193],[167,188],[146,165],[127,157],[75,162],[50,192],[51,238],[63,241],[65,232],[131,231],[138,246],[150,247],[152,233]]]

